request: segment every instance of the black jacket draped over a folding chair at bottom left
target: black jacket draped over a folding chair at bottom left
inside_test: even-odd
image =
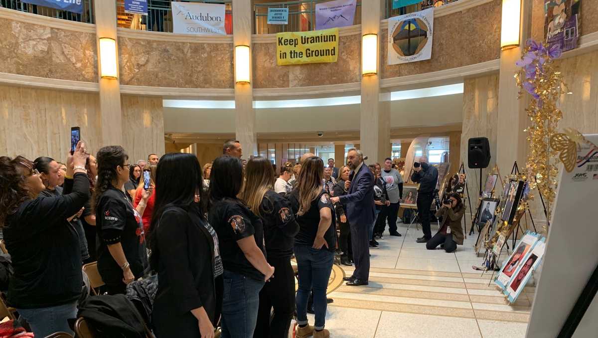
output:
[[[89,297],[79,306],[79,317],[86,319],[95,337],[145,338],[144,319],[124,294]]]

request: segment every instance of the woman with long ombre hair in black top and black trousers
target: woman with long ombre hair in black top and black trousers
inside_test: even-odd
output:
[[[260,309],[255,338],[288,336],[295,312],[295,276],[291,266],[294,237],[299,225],[291,205],[274,190],[274,169],[264,157],[253,157],[245,166],[246,181],[242,199],[264,224],[267,261],[274,267],[276,278],[260,291]],[[271,309],[274,316],[270,323]]]

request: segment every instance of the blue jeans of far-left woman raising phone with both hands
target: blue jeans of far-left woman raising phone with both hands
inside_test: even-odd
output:
[[[17,309],[26,319],[36,337],[50,336],[54,332],[74,334],[67,319],[77,318],[77,302],[38,309]]]

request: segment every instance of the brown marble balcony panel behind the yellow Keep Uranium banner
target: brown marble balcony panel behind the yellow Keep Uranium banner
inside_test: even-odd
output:
[[[276,65],[276,43],[253,44],[254,88],[285,88],[355,83],[361,80],[361,35],[338,38],[338,60],[332,63]]]

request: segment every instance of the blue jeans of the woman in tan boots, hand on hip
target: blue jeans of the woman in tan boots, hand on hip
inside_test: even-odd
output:
[[[326,322],[326,289],[334,263],[334,252],[325,247],[314,249],[311,246],[295,245],[295,258],[299,272],[297,291],[297,324],[307,324],[307,299],[313,290],[313,310],[316,313],[316,330],[322,330]]]

